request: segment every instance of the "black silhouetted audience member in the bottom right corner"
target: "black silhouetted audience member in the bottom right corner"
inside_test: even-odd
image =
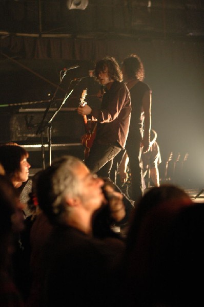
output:
[[[152,290],[162,305],[203,305],[204,204],[183,208],[158,256]]]

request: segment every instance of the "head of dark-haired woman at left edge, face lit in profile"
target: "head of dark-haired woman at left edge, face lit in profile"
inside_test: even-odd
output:
[[[13,144],[0,146],[0,163],[14,187],[19,187],[28,180],[30,168],[28,156],[28,152],[21,146]]]

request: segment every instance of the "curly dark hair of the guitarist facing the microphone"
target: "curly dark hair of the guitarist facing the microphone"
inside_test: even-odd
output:
[[[102,60],[96,62],[94,75],[98,78],[100,72],[104,72],[108,68],[109,78],[121,82],[123,74],[120,70],[119,64],[114,57],[107,56]]]

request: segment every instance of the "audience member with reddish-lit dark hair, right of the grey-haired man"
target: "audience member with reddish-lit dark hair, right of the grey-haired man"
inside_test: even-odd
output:
[[[173,185],[151,188],[138,202],[123,264],[122,284],[128,299],[127,306],[150,307],[162,303],[158,290],[164,282],[160,279],[161,255],[177,215],[183,208],[192,205],[188,194]],[[171,260],[168,257],[165,264],[168,266]]]

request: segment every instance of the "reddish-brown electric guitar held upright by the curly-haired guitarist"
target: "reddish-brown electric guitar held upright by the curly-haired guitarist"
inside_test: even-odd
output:
[[[79,106],[80,107],[84,107],[87,102],[85,101],[85,98],[87,96],[87,89],[85,89],[82,94],[81,94],[81,98],[79,99]],[[93,141],[95,139],[96,136],[96,122],[87,119],[86,115],[83,115],[84,117],[84,124],[85,124],[85,135],[83,135],[81,137],[81,143],[85,146],[85,160],[88,158],[89,156],[89,152],[90,152],[90,148],[93,145]]]

